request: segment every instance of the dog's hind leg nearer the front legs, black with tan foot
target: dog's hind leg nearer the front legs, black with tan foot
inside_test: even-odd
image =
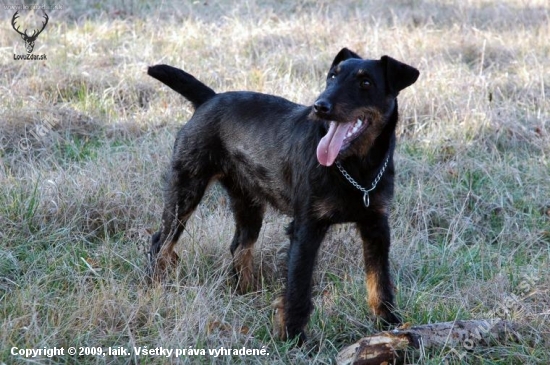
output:
[[[256,290],[258,286],[254,275],[253,249],[262,228],[265,203],[253,199],[231,179],[222,179],[221,183],[231,198],[235,234],[230,250],[233,255],[237,290],[244,294]]]

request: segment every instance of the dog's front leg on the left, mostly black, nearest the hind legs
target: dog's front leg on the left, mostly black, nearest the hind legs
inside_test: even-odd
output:
[[[306,338],[304,327],[313,310],[311,289],[315,257],[329,225],[296,220],[291,227],[286,289],[275,304],[275,327],[282,340],[298,337],[301,345]]]

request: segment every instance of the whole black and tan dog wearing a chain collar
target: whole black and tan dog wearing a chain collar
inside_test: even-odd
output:
[[[178,133],[165,192],[162,227],[150,250],[152,275],[176,264],[173,251],[207,186],[227,190],[235,216],[231,243],[238,288],[255,287],[252,249],[266,203],[293,217],[286,292],[277,301],[282,339],[305,339],[312,273],[332,224],[354,222],[363,240],[368,303],[385,324],[394,312],[388,271],[397,95],[418,78],[388,56],[364,60],[342,49],[313,106],[253,92],[216,94],[167,65],[148,74],[191,101],[196,111]]]

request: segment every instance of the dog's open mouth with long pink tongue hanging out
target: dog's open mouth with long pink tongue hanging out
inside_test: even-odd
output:
[[[323,166],[330,166],[338,157],[340,151],[345,150],[350,143],[359,137],[370,122],[367,118],[357,118],[353,122],[330,122],[327,134],[317,146],[317,161]]]

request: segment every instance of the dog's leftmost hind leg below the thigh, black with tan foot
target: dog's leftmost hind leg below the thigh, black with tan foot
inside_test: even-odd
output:
[[[160,281],[166,270],[178,263],[174,246],[189,216],[201,201],[210,179],[209,174],[172,167],[166,179],[162,226],[153,235],[149,250],[149,275],[153,280]]]

